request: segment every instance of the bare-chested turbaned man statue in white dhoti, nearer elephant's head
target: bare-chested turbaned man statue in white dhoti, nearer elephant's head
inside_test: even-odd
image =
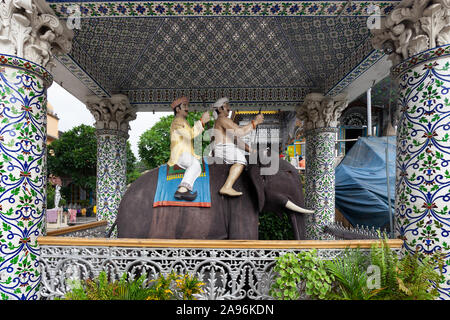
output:
[[[242,192],[234,190],[233,185],[247,165],[244,151],[253,152],[240,137],[246,136],[262,123],[264,116],[258,114],[249,124],[239,126],[228,118],[231,112],[228,98],[220,98],[214,103],[213,108],[214,118],[216,118],[214,123],[214,156],[222,158],[227,164],[232,164],[228,178],[219,193],[231,197],[240,196]]]

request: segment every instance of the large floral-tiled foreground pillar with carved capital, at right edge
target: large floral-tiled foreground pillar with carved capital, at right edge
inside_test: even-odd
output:
[[[445,255],[450,299],[450,1],[402,1],[374,30],[398,84],[395,231],[405,252]]]

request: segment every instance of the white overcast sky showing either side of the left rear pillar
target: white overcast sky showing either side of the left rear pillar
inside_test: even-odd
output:
[[[80,124],[94,125],[94,117],[84,103],[56,82],[53,82],[48,89],[47,98],[53,106],[54,112],[58,115],[59,131],[65,132]],[[136,120],[130,122],[130,138],[128,140],[137,159],[139,159],[137,144],[141,134],[150,129],[161,117],[170,114],[170,112],[156,112],[155,114],[153,112],[138,112]]]

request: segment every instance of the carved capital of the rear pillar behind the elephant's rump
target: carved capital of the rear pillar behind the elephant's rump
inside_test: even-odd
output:
[[[131,106],[128,97],[123,94],[115,94],[111,98],[89,96],[86,106],[95,118],[97,130],[104,132],[114,130],[127,134],[129,122],[136,119],[137,109]]]

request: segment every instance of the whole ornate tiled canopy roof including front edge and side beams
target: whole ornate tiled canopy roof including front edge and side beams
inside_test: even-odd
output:
[[[57,82],[83,102],[120,93],[139,111],[169,111],[181,94],[194,108],[228,96],[241,110],[294,110],[310,92],[356,98],[390,67],[371,46],[367,8],[384,16],[398,2],[48,3],[80,17]]]

